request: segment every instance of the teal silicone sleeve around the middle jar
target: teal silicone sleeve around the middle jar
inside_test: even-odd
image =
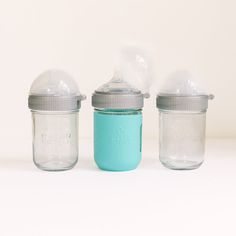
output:
[[[94,159],[100,169],[135,169],[141,153],[141,112],[125,115],[94,112]]]

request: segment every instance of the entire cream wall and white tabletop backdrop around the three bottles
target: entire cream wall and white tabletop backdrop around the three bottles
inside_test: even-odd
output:
[[[0,235],[235,235],[236,2],[234,0],[0,0]],[[151,49],[155,84],[145,101],[143,161],[132,172],[93,162],[91,94],[109,80],[125,43]],[[27,98],[44,70],[71,73],[88,99],[71,171],[32,162]],[[174,69],[215,94],[205,164],[158,162],[155,96]]]

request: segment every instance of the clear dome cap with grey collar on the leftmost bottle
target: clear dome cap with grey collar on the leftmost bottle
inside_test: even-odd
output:
[[[70,111],[79,109],[84,99],[68,73],[48,70],[34,80],[28,102],[32,110]]]

